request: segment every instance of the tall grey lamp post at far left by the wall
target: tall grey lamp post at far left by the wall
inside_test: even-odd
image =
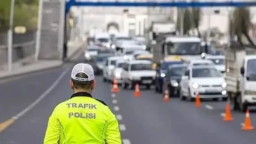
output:
[[[14,16],[15,0],[11,0],[11,11],[9,15],[8,30],[8,71],[12,69],[13,63],[13,16]]]

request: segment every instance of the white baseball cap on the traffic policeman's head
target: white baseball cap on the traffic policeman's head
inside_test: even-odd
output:
[[[84,73],[85,75],[88,76],[88,78],[78,78],[76,77],[78,73]],[[76,64],[72,69],[71,78],[77,81],[92,81],[94,80],[94,69],[90,64],[84,64],[84,63]]]

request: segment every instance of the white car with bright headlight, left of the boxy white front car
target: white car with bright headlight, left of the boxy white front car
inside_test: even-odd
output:
[[[116,81],[118,82],[118,84],[122,83],[121,72],[123,70],[124,63],[125,63],[124,59],[118,59],[116,61],[116,65],[114,66],[114,69],[111,72],[111,80],[114,80],[114,78],[116,78]]]

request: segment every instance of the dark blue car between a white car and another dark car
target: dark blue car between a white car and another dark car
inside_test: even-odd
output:
[[[160,64],[157,64],[155,71],[155,92],[162,93],[162,84],[164,77],[166,76],[169,66],[173,64],[183,64],[183,61],[162,61]]]

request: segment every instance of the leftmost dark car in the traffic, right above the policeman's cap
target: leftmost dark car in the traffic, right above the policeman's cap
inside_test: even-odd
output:
[[[94,73],[95,75],[100,75],[102,73],[102,69],[104,67],[104,61],[107,59],[107,57],[114,56],[113,53],[105,53],[105,54],[99,54],[95,59],[95,68]]]

